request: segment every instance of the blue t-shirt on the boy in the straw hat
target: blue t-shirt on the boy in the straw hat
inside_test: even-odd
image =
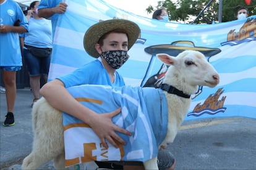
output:
[[[124,79],[117,71],[115,72],[114,83],[111,83],[108,72],[103,67],[100,59],[87,63],[72,73],[60,76],[59,80],[64,83],[65,87],[79,86],[82,84],[99,84],[109,86],[124,86]]]

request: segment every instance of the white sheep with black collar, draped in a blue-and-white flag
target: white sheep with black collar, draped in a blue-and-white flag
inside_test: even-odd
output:
[[[184,51],[177,57],[167,54],[158,54],[158,59],[167,65],[166,78],[163,84],[179,89],[184,94],[194,94],[198,85],[215,87],[219,83],[219,75],[205,56],[198,51]],[[167,90],[168,91],[168,90]],[[164,91],[168,101],[168,131],[159,148],[173,142],[179,126],[181,126],[187,111],[190,98],[181,97]],[[32,110],[33,119],[33,150],[22,164],[22,169],[36,169],[54,159],[56,169],[64,169],[64,129],[62,125],[62,113],[51,107],[42,97],[35,103]],[[158,169],[157,158],[145,161],[145,169]]]

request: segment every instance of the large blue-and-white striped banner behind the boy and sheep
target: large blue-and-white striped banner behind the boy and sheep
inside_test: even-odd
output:
[[[256,16],[212,25],[189,25],[140,17],[100,0],[67,0],[58,20],[49,81],[95,60],[83,49],[83,35],[100,20],[122,18],[137,23],[141,35],[130,59],[118,71],[127,85],[157,87],[168,66],[157,53],[176,56],[197,50],[220,73],[220,84],[200,87],[185,120],[244,116],[256,118]]]

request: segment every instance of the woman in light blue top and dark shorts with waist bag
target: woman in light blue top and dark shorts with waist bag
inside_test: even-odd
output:
[[[23,41],[23,57],[28,67],[30,88],[33,93],[33,104],[40,98],[40,78],[48,79],[51,49],[53,47],[51,20],[38,17],[37,7],[40,1],[33,1],[28,10],[29,31],[20,34]],[[41,54],[42,53],[42,54]]]

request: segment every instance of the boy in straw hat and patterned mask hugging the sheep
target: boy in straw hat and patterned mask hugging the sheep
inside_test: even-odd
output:
[[[93,62],[87,63],[81,68],[60,76],[40,89],[40,94],[58,110],[69,113],[92,127],[95,134],[100,138],[105,148],[108,144],[117,147],[117,142],[126,145],[126,142],[116,132],[131,135],[126,129],[113,124],[113,116],[118,115],[121,109],[111,113],[98,114],[95,111],[80,104],[67,91],[67,87],[82,84],[100,84],[108,86],[124,86],[124,79],[117,69],[129,59],[127,52],[134,45],[140,35],[139,26],[129,20],[106,20],[90,26],[83,38],[83,46]],[[158,154],[160,168],[173,169],[174,160],[170,159],[169,152]],[[173,157],[171,157],[173,158]],[[110,169],[144,169],[143,163],[129,162],[96,162],[100,168]]]

